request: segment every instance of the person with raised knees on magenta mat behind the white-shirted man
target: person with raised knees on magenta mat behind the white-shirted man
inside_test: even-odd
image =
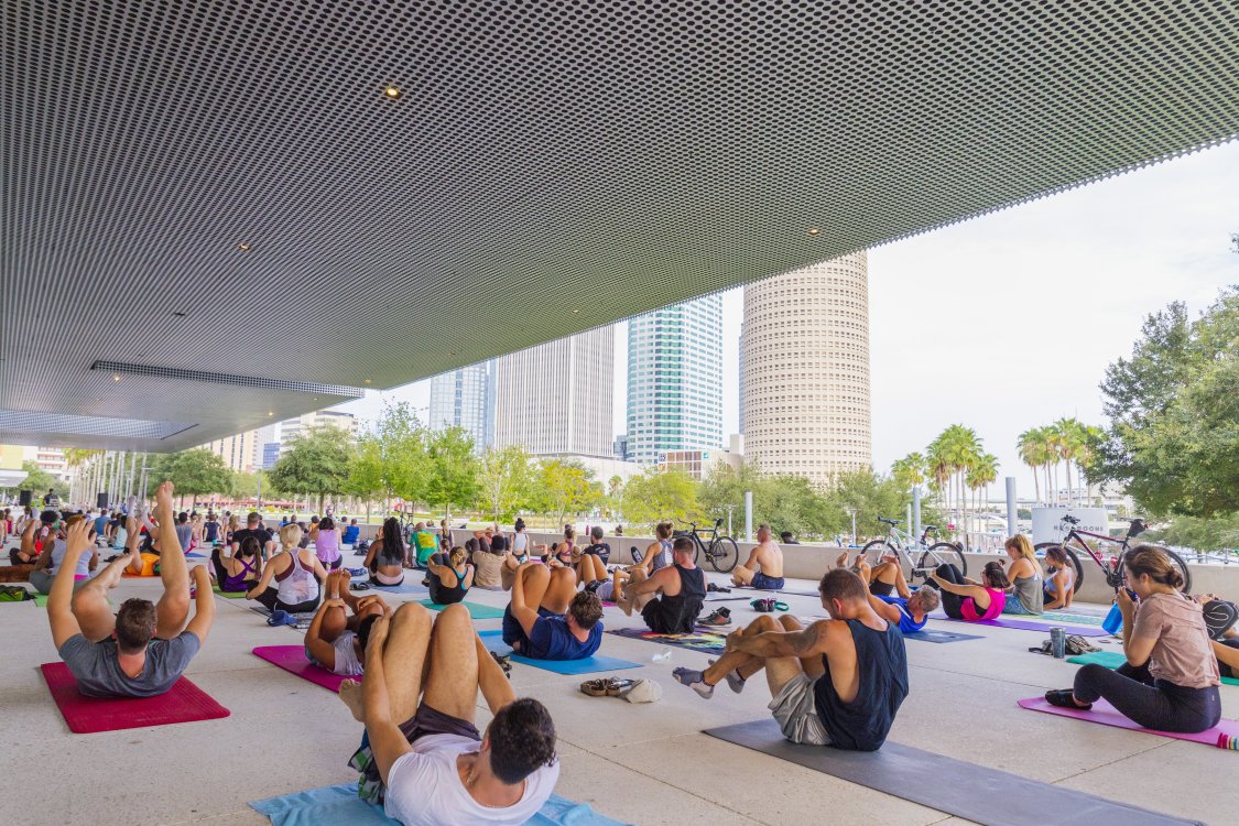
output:
[[[332,674],[356,677],[366,663],[366,641],[379,617],[392,608],[377,594],[354,597],[348,591],[348,571],[327,575],[323,599],[306,630],[306,656]]]

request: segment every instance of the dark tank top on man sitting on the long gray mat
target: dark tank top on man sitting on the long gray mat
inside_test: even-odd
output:
[[[886,742],[900,703],[908,696],[903,634],[895,623],[887,623],[886,632],[876,632],[859,619],[846,622],[856,645],[860,690],[850,703],[843,702],[830,681],[830,663],[823,656],[826,672],[813,686],[814,700],[831,746],[876,752]]]

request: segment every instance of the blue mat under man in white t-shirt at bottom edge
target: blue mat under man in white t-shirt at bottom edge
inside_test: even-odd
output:
[[[266,815],[273,826],[399,826],[383,810],[357,796],[356,783],[297,791],[281,798],[258,800],[250,809]],[[541,811],[525,826],[624,826],[590,809],[587,804],[551,795]]]

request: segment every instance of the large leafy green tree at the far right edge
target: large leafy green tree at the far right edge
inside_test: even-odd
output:
[[[1090,482],[1115,482],[1147,513],[1239,510],[1239,287],[1197,320],[1180,303],[1149,316],[1130,359],[1101,383],[1110,419]]]

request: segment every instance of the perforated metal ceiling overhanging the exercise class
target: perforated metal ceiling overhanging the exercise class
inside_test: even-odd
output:
[[[1239,131],[1233,2],[0,2],[0,407],[156,450]]]

